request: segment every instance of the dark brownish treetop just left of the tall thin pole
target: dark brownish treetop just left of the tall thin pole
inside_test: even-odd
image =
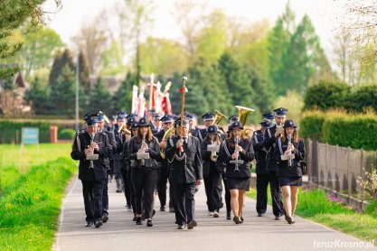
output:
[[[49,84],[52,87],[56,80],[61,76],[63,68],[67,66],[72,72],[75,72],[76,67],[73,63],[71,51],[65,49],[64,51],[58,51],[55,59],[52,63],[52,70],[50,72]]]

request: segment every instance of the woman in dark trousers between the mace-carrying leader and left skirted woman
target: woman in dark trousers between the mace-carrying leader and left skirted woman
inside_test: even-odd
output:
[[[206,134],[201,144],[205,195],[210,216],[218,218],[221,202],[221,171],[216,167],[218,153],[209,152],[207,149],[210,144],[219,146],[221,144],[217,125],[209,125]]]

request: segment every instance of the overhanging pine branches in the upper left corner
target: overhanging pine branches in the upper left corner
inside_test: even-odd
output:
[[[0,63],[7,64],[0,68],[0,79],[13,76],[20,67],[8,65],[7,59],[13,57],[21,49],[21,42],[12,42],[9,38],[15,30],[23,28],[24,33],[33,31],[44,20],[42,4],[45,0],[30,0],[27,5],[23,1],[2,1],[0,4]],[[60,0],[55,0],[61,6]]]

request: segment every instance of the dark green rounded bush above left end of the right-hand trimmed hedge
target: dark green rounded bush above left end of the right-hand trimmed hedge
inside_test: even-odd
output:
[[[349,99],[351,88],[344,83],[320,81],[307,88],[304,98],[304,109],[327,110],[344,107]]]

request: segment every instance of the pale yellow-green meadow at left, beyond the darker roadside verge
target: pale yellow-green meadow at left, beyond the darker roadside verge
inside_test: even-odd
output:
[[[36,145],[0,144],[0,191],[19,179],[21,174],[28,172],[33,166],[54,161],[60,157],[69,157],[71,144],[40,144]]]

